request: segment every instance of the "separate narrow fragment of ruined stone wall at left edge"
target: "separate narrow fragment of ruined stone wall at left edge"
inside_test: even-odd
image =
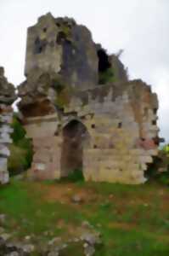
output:
[[[16,99],[14,85],[4,77],[4,69],[0,67],[0,183],[8,183],[8,145],[12,143],[10,127],[13,117],[12,103]]]

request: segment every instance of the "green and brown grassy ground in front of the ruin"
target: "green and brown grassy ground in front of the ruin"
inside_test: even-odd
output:
[[[74,204],[80,195],[82,204]],[[0,188],[0,213],[14,239],[31,236],[40,246],[55,236],[80,236],[87,220],[102,234],[96,256],[169,255],[169,188],[157,183],[11,181]],[[81,256],[75,247],[63,255]]]

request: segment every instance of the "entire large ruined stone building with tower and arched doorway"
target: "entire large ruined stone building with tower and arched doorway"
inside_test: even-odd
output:
[[[111,73],[112,72],[112,73]],[[31,177],[144,183],[158,153],[158,100],[129,81],[115,55],[75,20],[50,14],[28,29],[20,112],[34,157]]]

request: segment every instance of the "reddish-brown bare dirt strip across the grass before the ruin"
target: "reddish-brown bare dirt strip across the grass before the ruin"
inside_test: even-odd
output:
[[[114,204],[116,209],[119,210],[119,214],[127,211],[127,207],[138,207],[143,206],[146,208],[153,207],[154,203],[158,204],[161,212],[169,211],[169,204],[166,202],[169,201],[169,189],[161,188],[161,186],[150,187],[147,190],[147,193],[143,190],[143,194],[137,193],[123,195],[115,195],[113,193],[104,195],[95,190],[92,187],[80,187],[76,183],[31,183],[31,190],[39,190],[42,193],[42,199],[48,202],[59,201],[62,204],[73,205],[71,198],[73,195],[78,195],[82,198],[82,203],[84,204],[93,204],[109,201]],[[74,204],[75,205],[75,204]],[[82,204],[76,204],[76,207],[81,207]],[[139,214],[138,214],[139,215]]]

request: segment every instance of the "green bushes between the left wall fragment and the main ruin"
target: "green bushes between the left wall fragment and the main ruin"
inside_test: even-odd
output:
[[[12,123],[14,132],[12,134],[13,144],[10,145],[10,156],[8,158],[8,171],[10,176],[24,172],[31,166],[32,146],[31,139],[25,137],[25,129],[14,114]]]

